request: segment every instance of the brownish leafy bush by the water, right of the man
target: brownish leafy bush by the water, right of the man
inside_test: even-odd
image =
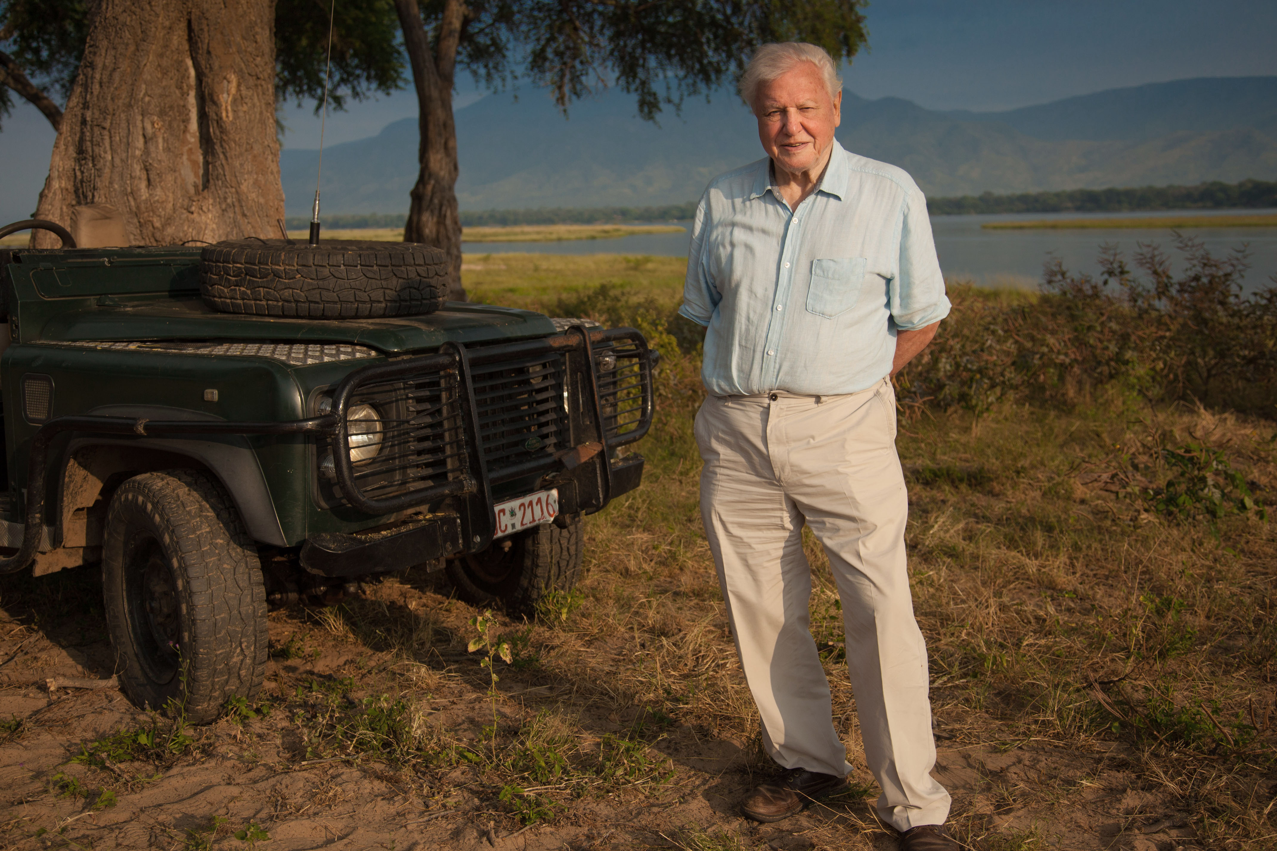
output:
[[[902,399],[978,417],[1000,399],[1075,404],[1117,387],[1277,413],[1277,287],[1243,292],[1244,249],[1218,258],[1184,236],[1176,249],[1179,276],[1157,246],[1137,253],[1138,273],[1102,246],[1098,279],[1054,259],[1036,296],[950,287],[953,314],[898,376]]]

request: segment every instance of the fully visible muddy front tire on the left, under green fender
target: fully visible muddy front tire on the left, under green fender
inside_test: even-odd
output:
[[[120,485],[107,508],[102,587],[120,685],[138,706],[167,709],[174,700],[203,723],[231,695],[261,689],[262,565],[208,476],[171,470]]]

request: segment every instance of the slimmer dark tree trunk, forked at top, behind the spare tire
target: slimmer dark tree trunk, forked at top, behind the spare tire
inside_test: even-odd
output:
[[[404,46],[416,85],[421,171],[404,226],[405,242],[425,242],[448,256],[448,299],[465,301],[461,286],[461,216],[457,213],[457,126],[452,117],[452,79],[465,4],[447,0],[432,50],[416,0],[395,0]]]

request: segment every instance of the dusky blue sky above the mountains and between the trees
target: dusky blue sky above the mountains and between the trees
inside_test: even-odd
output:
[[[847,87],[935,110],[1005,110],[1190,77],[1277,74],[1273,0],[876,0],[866,15],[870,50],[845,69]],[[458,106],[475,97],[464,80]],[[54,142],[43,116],[14,100],[19,106],[0,131],[6,221],[34,209]],[[286,145],[317,147],[312,108],[283,111]],[[373,135],[414,115],[410,92],[352,103],[328,116],[326,142]]]

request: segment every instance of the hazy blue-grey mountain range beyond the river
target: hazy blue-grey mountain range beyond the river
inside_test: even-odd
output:
[[[490,94],[456,111],[462,209],[674,204],[757,159],[753,117],[732,93],[688,100],[659,124],[623,92],[573,103]],[[932,196],[1277,177],[1277,77],[1108,89],[1002,112],[933,111],[843,92],[843,147],[905,168]],[[329,213],[398,213],[416,180],[415,119],[323,157]],[[286,148],[289,214],[306,214],[317,151]]]

